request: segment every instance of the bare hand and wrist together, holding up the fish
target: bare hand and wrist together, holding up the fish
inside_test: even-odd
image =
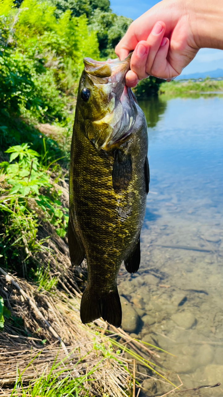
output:
[[[223,0],[163,0],[133,21],[115,52],[133,51],[126,84],[152,75],[171,80],[200,48],[223,50]]]

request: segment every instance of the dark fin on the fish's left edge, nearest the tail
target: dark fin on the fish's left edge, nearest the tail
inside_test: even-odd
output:
[[[68,221],[67,237],[68,237],[71,265],[79,266],[85,258],[85,249],[77,239],[77,235],[73,227],[73,218],[71,215],[69,216],[69,221]]]

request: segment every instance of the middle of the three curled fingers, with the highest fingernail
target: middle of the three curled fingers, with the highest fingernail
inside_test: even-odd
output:
[[[150,52],[146,62],[146,72],[148,74],[151,74],[150,71],[152,68],[152,64],[154,62],[157,51],[160,48],[160,44],[163,39],[164,33],[165,33],[165,23],[159,21],[154,25],[152,32],[150,33],[148,39],[146,40],[150,46]]]

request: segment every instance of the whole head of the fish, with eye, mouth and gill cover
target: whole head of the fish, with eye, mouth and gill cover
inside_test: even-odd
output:
[[[136,98],[125,85],[131,54],[105,62],[85,58],[77,103],[85,135],[97,148],[112,150],[131,135],[137,116]]]

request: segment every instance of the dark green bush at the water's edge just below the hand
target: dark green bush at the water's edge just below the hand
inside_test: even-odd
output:
[[[140,99],[156,96],[158,95],[161,83],[163,83],[162,79],[149,76],[147,79],[139,81],[137,87],[135,87],[133,91],[135,96]]]

